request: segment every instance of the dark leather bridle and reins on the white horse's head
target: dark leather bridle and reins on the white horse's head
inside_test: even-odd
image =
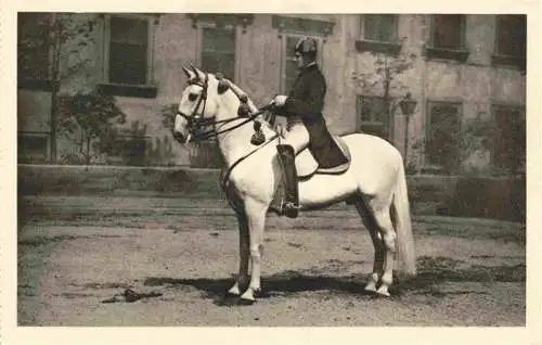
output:
[[[197,100],[196,106],[192,111],[191,115],[186,115],[183,112],[177,112],[178,115],[184,117],[188,122],[188,130],[192,138],[194,140],[206,140],[211,137],[218,137],[219,135],[229,132],[231,130],[234,130],[241,126],[246,125],[249,122],[253,122],[256,117],[259,115],[263,114],[266,111],[268,111],[271,105],[266,105],[260,108],[256,113],[250,113],[250,110],[248,108],[248,97],[246,94],[237,92],[234,88],[230,87],[230,81],[222,78],[221,76],[217,76],[217,79],[219,80],[219,88],[229,88],[241,101],[241,105],[237,110],[237,116],[228,118],[228,119],[221,119],[221,120],[216,120],[216,117],[205,117],[203,114],[205,114],[205,105],[207,104],[207,89],[209,87],[208,80],[209,77],[207,73],[205,74],[205,78],[202,80],[202,78],[195,78],[193,80],[189,80],[190,85],[196,85],[202,87],[202,94]],[[202,112],[198,114],[198,110],[202,106],[203,103],[203,108]],[[238,119],[244,119],[242,123],[236,124],[235,126],[228,127],[222,130],[217,130],[217,125],[225,125],[232,122],[236,122]],[[212,129],[206,130],[206,131],[198,131],[203,127],[209,127],[212,126]],[[221,126],[222,127],[222,126]]]

